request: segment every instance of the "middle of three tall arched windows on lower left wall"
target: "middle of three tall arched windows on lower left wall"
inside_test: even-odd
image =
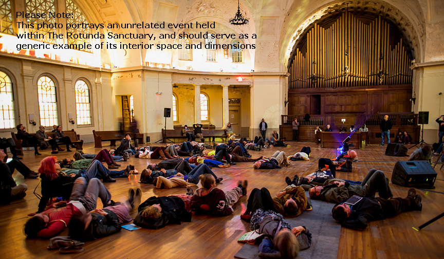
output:
[[[59,125],[55,84],[50,77],[39,78],[37,95],[39,97],[40,124],[43,126]]]

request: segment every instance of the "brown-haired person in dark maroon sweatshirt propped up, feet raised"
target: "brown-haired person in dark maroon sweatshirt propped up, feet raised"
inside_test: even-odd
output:
[[[214,175],[200,175],[199,179],[202,188],[196,190],[190,201],[191,209],[196,214],[228,216],[234,212],[232,206],[239,200],[239,197],[247,194],[248,182],[246,180],[238,181],[237,187],[224,192],[216,188],[218,181]]]

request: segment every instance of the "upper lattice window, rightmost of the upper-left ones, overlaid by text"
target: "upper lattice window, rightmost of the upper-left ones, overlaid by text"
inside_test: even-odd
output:
[[[71,0],[66,0],[66,12],[71,14],[69,17],[66,18],[67,24],[89,24],[88,21],[86,20],[85,16],[82,14],[82,11]],[[91,29],[89,29],[88,26],[85,26],[84,28],[82,28],[82,26],[79,26],[76,29],[72,29],[72,27],[66,28],[66,31],[71,32],[72,34],[91,33]],[[68,41],[68,44],[83,44],[83,43],[91,44],[90,39],[67,38],[67,41]],[[84,51],[93,52],[90,49],[85,49]]]

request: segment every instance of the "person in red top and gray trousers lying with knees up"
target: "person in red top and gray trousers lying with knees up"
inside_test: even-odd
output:
[[[57,235],[69,225],[71,217],[82,216],[96,209],[97,198],[101,199],[103,207],[120,204],[111,199],[111,193],[99,179],[88,182],[83,177],[77,178],[69,201],[51,204],[47,210],[28,219],[25,223],[25,235],[28,238],[50,238]]]

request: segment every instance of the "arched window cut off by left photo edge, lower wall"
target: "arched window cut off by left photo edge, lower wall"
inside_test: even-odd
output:
[[[15,127],[14,93],[11,79],[0,71],[0,128]]]

